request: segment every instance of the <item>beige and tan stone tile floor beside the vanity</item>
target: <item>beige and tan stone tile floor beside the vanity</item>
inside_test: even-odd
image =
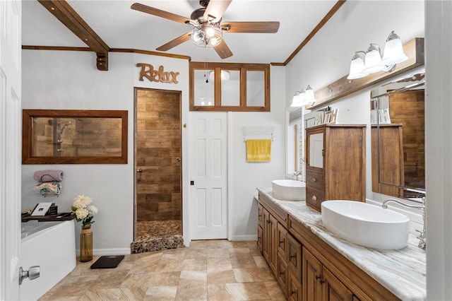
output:
[[[40,300],[286,300],[256,242],[199,240],[91,270],[96,259],[78,262]]]

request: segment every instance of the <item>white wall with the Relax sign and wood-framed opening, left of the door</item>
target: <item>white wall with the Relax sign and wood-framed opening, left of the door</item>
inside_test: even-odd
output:
[[[138,81],[136,63],[155,69],[179,71],[178,84]],[[23,50],[23,109],[127,110],[129,111],[128,163],[115,165],[23,165],[22,208],[53,201],[59,212],[69,212],[73,197],[90,196],[99,209],[93,225],[95,254],[126,254],[133,241],[133,96],[134,86],[182,90],[188,111],[188,61],[143,54],[109,54],[109,71],[98,71],[92,52]],[[183,120],[184,122],[184,120]],[[183,134],[183,143],[186,143]],[[184,144],[185,146],[185,144]],[[58,198],[37,194],[32,176],[36,170],[64,171]],[[76,226],[76,235],[81,225]],[[78,240],[77,240],[78,243]]]

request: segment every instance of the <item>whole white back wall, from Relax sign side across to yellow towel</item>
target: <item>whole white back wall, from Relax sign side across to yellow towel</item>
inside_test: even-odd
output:
[[[23,50],[23,109],[128,110],[129,141],[126,165],[23,165],[23,208],[40,201],[54,201],[59,212],[70,211],[73,197],[93,198],[95,254],[124,254],[133,241],[133,87],[182,91],[182,124],[189,120],[189,63],[182,59],[145,54],[109,54],[109,71],[97,71],[90,52]],[[49,64],[48,62],[52,62]],[[138,81],[136,63],[160,65],[165,71],[179,71],[179,83]],[[256,187],[270,187],[271,180],[284,177],[285,71],[271,67],[271,112],[230,112],[230,233],[232,240],[256,240]],[[208,114],[208,113],[206,113]],[[247,163],[243,127],[275,126],[269,163]],[[182,158],[189,158],[188,131],[182,130]],[[183,228],[189,242],[189,160],[183,160]],[[58,198],[44,197],[32,190],[37,170],[64,170],[63,189]],[[187,179],[187,180],[185,180]],[[81,227],[76,227],[76,235]]]

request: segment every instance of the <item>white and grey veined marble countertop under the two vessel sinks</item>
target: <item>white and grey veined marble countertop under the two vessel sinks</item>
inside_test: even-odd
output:
[[[324,228],[321,213],[307,206],[305,201],[280,201],[273,197],[271,188],[258,188],[258,191],[401,300],[426,300],[426,255],[423,249],[417,247],[415,235],[409,235],[405,249],[361,247]]]

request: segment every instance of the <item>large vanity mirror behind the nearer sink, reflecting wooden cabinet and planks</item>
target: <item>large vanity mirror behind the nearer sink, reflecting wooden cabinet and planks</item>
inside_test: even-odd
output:
[[[424,69],[371,92],[372,191],[419,200],[425,194]]]

